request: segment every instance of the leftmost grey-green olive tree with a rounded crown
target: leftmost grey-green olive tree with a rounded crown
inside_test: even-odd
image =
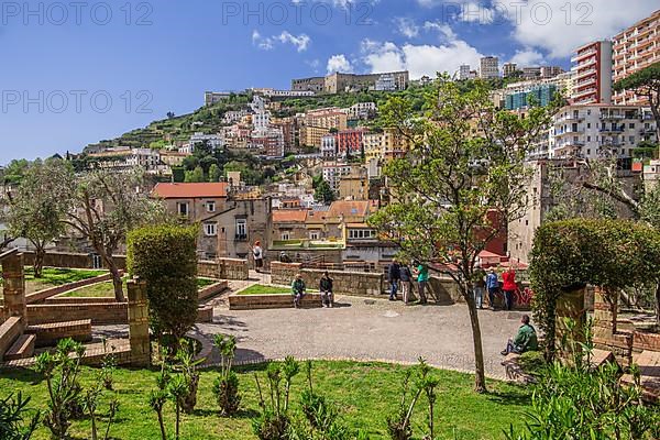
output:
[[[11,237],[22,237],[34,246],[34,276],[42,276],[46,245],[64,232],[73,169],[57,158],[35,161],[20,184],[8,193],[7,222]]]

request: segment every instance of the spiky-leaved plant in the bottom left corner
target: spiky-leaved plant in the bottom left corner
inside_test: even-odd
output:
[[[30,397],[21,392],[0,400],[0,439],[30,440],[40,421],[40,413],[28,408]],[[30,413],[34,413],[30,416]]]

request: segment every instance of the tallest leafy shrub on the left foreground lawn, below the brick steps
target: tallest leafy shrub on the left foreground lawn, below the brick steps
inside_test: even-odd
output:
[[[54,353],[44,352],[36,358],[35,370],[43,374],[48,387],[48,409],[43,422],[56,439],[65,439],[70,419],[81,413],[80,359],[85,346],[72,339],[63,339]]]

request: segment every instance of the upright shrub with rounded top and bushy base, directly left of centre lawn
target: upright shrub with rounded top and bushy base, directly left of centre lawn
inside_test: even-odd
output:
[[[220,376],[213,382],[213,394],[220,414],[232,416],[241,406],[239,394],[239,376],[232,371],[232,363],[237,351],[237,339],[233,336],[216,334],[213,344],[220,351]]]

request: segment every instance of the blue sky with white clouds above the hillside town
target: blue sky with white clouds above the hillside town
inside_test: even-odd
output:
[[[0,164],[190,112],[205,90],[338,69],[432,76],[482,55],[568,68],[572,48],[656,9],[592,1],[3,1]]]

